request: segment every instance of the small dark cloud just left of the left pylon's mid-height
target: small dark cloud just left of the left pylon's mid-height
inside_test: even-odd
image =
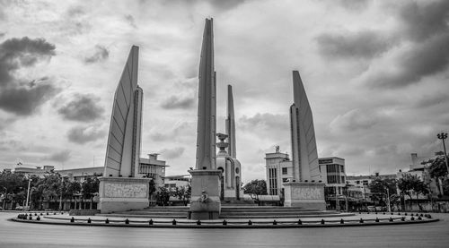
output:
[[[104,113],[104,108],[99,105],[101,99],[92,94],[75,94],[63,107],[57,110],[66,120],[78,122],[92,122]]]

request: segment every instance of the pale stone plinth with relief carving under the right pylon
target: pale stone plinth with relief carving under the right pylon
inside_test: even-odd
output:
[[[284,206],[326,210],[324,184],[292,182],[282,185],[285,189]]]

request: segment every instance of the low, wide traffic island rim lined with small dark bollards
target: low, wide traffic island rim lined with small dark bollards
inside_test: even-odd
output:
[[[430,215],[400,216],[389,215],[368,216],[358,215],[353,218],[298,218],[298,219],[216,219],[216,220],[189,220],[189,219],[136,219],[136,218],[75,218],[43,216],[33,218],[28,215],[18,215],[12,221],[65,226],[89,227],[145,227],[145,228],[313,228],[313,227],[365,227],[384,225],[412,225],[436,222],[439,219]]]

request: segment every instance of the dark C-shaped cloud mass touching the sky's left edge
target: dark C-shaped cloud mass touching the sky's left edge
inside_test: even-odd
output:
[[[0,44],[0,108],[15,115],[31,115],[57,94],[59,89],[48,77],[29,81],[16,73],[55,56],[55,48],[44,38],[9,38]]]

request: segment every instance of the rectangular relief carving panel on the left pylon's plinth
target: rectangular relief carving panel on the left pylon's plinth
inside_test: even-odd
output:
[[[105,184],[105,197],[146,198],[146,185],[143,184]]]

